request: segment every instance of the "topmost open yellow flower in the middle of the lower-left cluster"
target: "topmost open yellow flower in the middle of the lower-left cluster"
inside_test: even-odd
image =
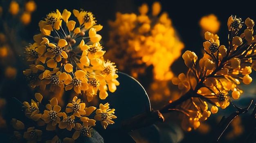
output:
[[[66,113],[71,113],[76,117],[81,117],[85,115],[85,103],[81,102],[81,99],[78,99],[77,96],[74,96],[72,103],[68,103],[66,107]]]

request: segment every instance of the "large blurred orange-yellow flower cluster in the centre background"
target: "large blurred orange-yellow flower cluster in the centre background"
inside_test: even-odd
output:
[[[147,4],[135,13],[117,13],[110,21],[110,39],[106,57],[116,61],[119,70],[138,78],[153,66],[154,80],[170,80],[170,66],[179,58],[184,44],[177,37],[171,19],[161,12],[160,2],[154,2],[151,13]]]

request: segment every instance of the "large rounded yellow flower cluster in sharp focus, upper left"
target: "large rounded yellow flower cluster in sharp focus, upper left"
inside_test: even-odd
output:
[[[97,34],[103,28],[96,25],[91,12],[58,9],[40,20],[40,34],[34,35],[34,43],[25,48],[29,69],[23,74],[31,87],[49,89],[59,93],[74,90],[87,95],[88,102],[99,93],[106,99],[108,92],[115,92],[119,85],[115,63],[105,60],[105,51]],[[98,92],[99,91],[99,92]]]

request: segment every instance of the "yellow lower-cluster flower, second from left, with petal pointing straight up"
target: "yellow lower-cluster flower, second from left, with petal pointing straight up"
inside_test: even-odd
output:
[[[58,106],[58,100],[56,98],[52,98],[50,104],[46,104],[45,107],[47,110],[44,111],[41,118],[47,124],[46,130],[55,130],[56,125],[61,121],[61,106]]]

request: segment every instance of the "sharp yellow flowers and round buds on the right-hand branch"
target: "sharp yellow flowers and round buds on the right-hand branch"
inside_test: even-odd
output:
[[[227,26],[228,46],[220,45],[218,35],[205,32],[203,57],[198,60],[194,52],[186,51],[182,58],[189,70],[172,79],[188,97],[177,106],[177,110],[184,113],[182,127],[185,130],[198,128],[200,122],[211,113],[217,113],[218,108],[227,108],[243,93],[240,83],[252,82],[250,74],[256,69],[254,21],[247,18],[243,22],[241,18],[230,16]],[[208,104],[212,104],[210,110]]]

